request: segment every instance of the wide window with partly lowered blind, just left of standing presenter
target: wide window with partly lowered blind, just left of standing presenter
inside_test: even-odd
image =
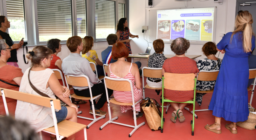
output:
[[[115,34],[115,2],[95,0],[96,39],[105,39],[108,34]]]

